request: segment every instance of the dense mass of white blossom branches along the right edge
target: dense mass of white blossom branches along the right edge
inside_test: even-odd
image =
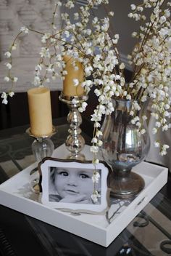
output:
[[[152,132],[159,129],[167,131],[171,127],[170,87],[171,87],[171,23],[170,2],[159,0],[144,0],[143,4],[131,4],[128,16],[135,20],[147,20],[142,17],[143,9],[152,8],[148,22],[140,26],[140,33],[133,32],[138,39],[130,63],[135,65],[133,81],[128,86],[132,99],[145,102],[151,99],[152,113],[156,119]],[[158,146],[157,146],[158,145]],[[155,142],[160,148],[160,154],[166,153],[169,145]]]

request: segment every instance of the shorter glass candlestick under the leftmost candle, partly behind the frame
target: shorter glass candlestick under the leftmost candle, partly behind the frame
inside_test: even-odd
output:
[[[33,156],[35,157],[36,161],[39,163],[42,159],[46,156],[51,156],[54,152],[54,143],[51,140],[51,137],[57,132],[56,128],[53,127],[52,132],[49,135],[42,135],[36,137],[31,133],[30,128],[26,130],[26,133],[33,137],[35,140],[33,141],[31,148],[33,152]],[[39,185],[39,178],[33,180],[32,185],[33,191],[35,193],[40,193],[40,185]]]

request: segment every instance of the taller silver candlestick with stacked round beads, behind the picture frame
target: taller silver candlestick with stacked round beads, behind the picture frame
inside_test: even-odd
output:
[[[68,129],[69,135],[65,141],[66,148],[68,151],[70,151],[70,155],[67,157],[67,159],[85,160],[83,153],[80,153],[84,148],[85,140],[80,134],[80,124],[82,124],[82,117],[78,111],[78,108],[80,107],[81,103],[83,103],[83,101],[88,100],[88,95],[66,96],[61,92],[59,95],[59,100],[61,100],[63,103],[66,103],[70,109],[67,115],[67,121],[70,124],[70,129]]]

